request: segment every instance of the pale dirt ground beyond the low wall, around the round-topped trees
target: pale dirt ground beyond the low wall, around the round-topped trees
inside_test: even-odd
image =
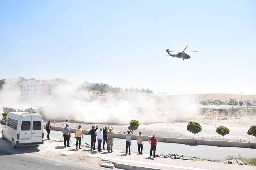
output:
[[[163,115],[165,116],[165,115]],[[185,118],[182,121],[175,122],[156,122],[149,124],[140,124],[139,128],[134,131],[135,135],[142,132],[144,136],[168,137],[193,139],[193,133],[187,129],[188,122],[198,122],[202,130],[195,134],[195,139],[199,140],[223,140],[223,137],[215,132],[219,126],[226,126],[230,132],[224,136],[224,141],[233,142],[251,142],[256,143],[256,138],[248,135],[247,131],[256,122],[256,109],[204,109],[198,115]],[[64,122],[64,120],[63,120]],[[55,126],[61,127],[63,122],[56,121]],[[100,123],[68,121],[70,128],[77,128],[81,125],[81,129],[90,130],[92,125],[102,127]],[[46,124],[47,122],[44,122]],[[52,127],[54,126],[51,123]],[[104,124],[112,126],[116,133],[127,131],[129,124]]]

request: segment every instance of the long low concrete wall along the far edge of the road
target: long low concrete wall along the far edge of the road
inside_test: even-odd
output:
[[[44,125],[45,129],[46,125]],[[62,131],[63,127],[53,127],[52,130]],[[71,133],[75,133],[76,129],[70,128]],[[84,135],[89,135],[89,130],[83,130]],[[126,136],[121,133],[114,133],[114,138],[126,139]],[[132,140],[136,140],[137,135],[132,135]],[[143,136],[145,142],[150,139],[151,136]],[[216,141],[216,140],[197,140],[197,139],[182,139],[182,138],[164,138],[157,137],[158,142],[166,143],[181,143],[187,145],[209,145],[209,146],[221,146],[221,147],[238,147],[238,148],[256,148],[256,143],[247,142],[227,142],[227,141]]]

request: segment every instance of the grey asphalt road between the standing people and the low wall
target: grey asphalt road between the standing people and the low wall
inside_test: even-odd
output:
[[[47,132],[45,131],[45,134]],[[71,139],[76,140],[74,138],[75,134],[71,133]],[[52,130],[50,133],[50,137],[56,139],[63,139],[62,132]],[[91,145],[91,137],[89,135],[84,135],[84,140],[82,143],[88,143]],[[105,144],[106,145],[106,144]],[[63,143],[64,146],[64,143]],[[106,147],[106,146],[105,146]],[[125,139],[114,138],[113,141],[113,149],[125,150]],[[97,148],[97,141],[96,141]],[[255,156],[255,150],[251,148],[235,148],[235,147],[219,147],[219,146],[206,146],[206,145],[185,145],[178,143],[158,143],[156,147],[156,154],[160,155],[160,153],[168,155],[169,153],[177,153],[179,155],[190,155],[196,156],[201,159],[207,160],[219,160],[223,161],[227,155],[238,156],[239,154],[242,157],[253,157]],[[136,140],[132,140],[131,142],[131,152],[138,152],[138,147]],[[150,144],[148,141],[144,141],[143,145],[143,153],[149,154],[150,152]]]

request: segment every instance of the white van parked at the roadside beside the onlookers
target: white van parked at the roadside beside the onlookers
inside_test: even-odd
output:
[[[39,113],[9,112],[2,123],[2,139],[17,146],[39,146],[44,143],[44,125]]]

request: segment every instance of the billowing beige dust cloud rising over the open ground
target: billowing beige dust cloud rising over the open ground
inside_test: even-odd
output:
[[[74,120],[95,123],[129,124],[173,122],[198,113],[194,99],[187,96],[145,94],[93,94],[81,89],[81,82],[59,86],[52,95],[27,98],[13,91],[12,80],[0,92],[1,107],[29,108],[44,105],[44,120]]]

